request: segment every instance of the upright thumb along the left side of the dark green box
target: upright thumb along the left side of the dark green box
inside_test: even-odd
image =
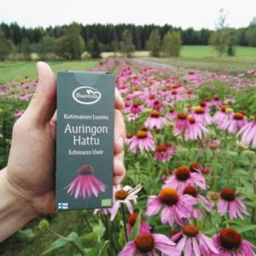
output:
[[[33,125],[44,125],[50,121],[56,110],[56,79],[51,68],[38,62],[38,87],[22,119]]]

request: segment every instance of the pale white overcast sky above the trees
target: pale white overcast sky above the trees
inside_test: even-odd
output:
[[[214,29],[219,9],[225,9],[228,25],[236,28],[248,26],[256,16],[255,0],[0,0],[0,23],[47,27],[77,21]]]

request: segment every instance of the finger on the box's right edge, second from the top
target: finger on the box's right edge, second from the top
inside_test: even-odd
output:
[[[119,110],[114,110],[114,139],[113,152],[119,154],[124,150],[125,143],[125,122],[122,113]]]

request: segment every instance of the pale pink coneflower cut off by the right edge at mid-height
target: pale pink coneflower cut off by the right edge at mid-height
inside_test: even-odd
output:
[[[241,130],[238,131],[237,136],[241,136],[241,143],[243,145],[252,143],[252,147],[256,148],[256,115],[252,122],[244,125]]]

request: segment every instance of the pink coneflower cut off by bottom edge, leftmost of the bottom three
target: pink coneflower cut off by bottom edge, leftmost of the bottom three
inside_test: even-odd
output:
[[[175,243],[162,234],[141,233],[133,241],[128,241],[119,256],[159,256],[164,253],[166,256],[179,256],[180,253]],[[157,253],[160,251],[161,253]]]

